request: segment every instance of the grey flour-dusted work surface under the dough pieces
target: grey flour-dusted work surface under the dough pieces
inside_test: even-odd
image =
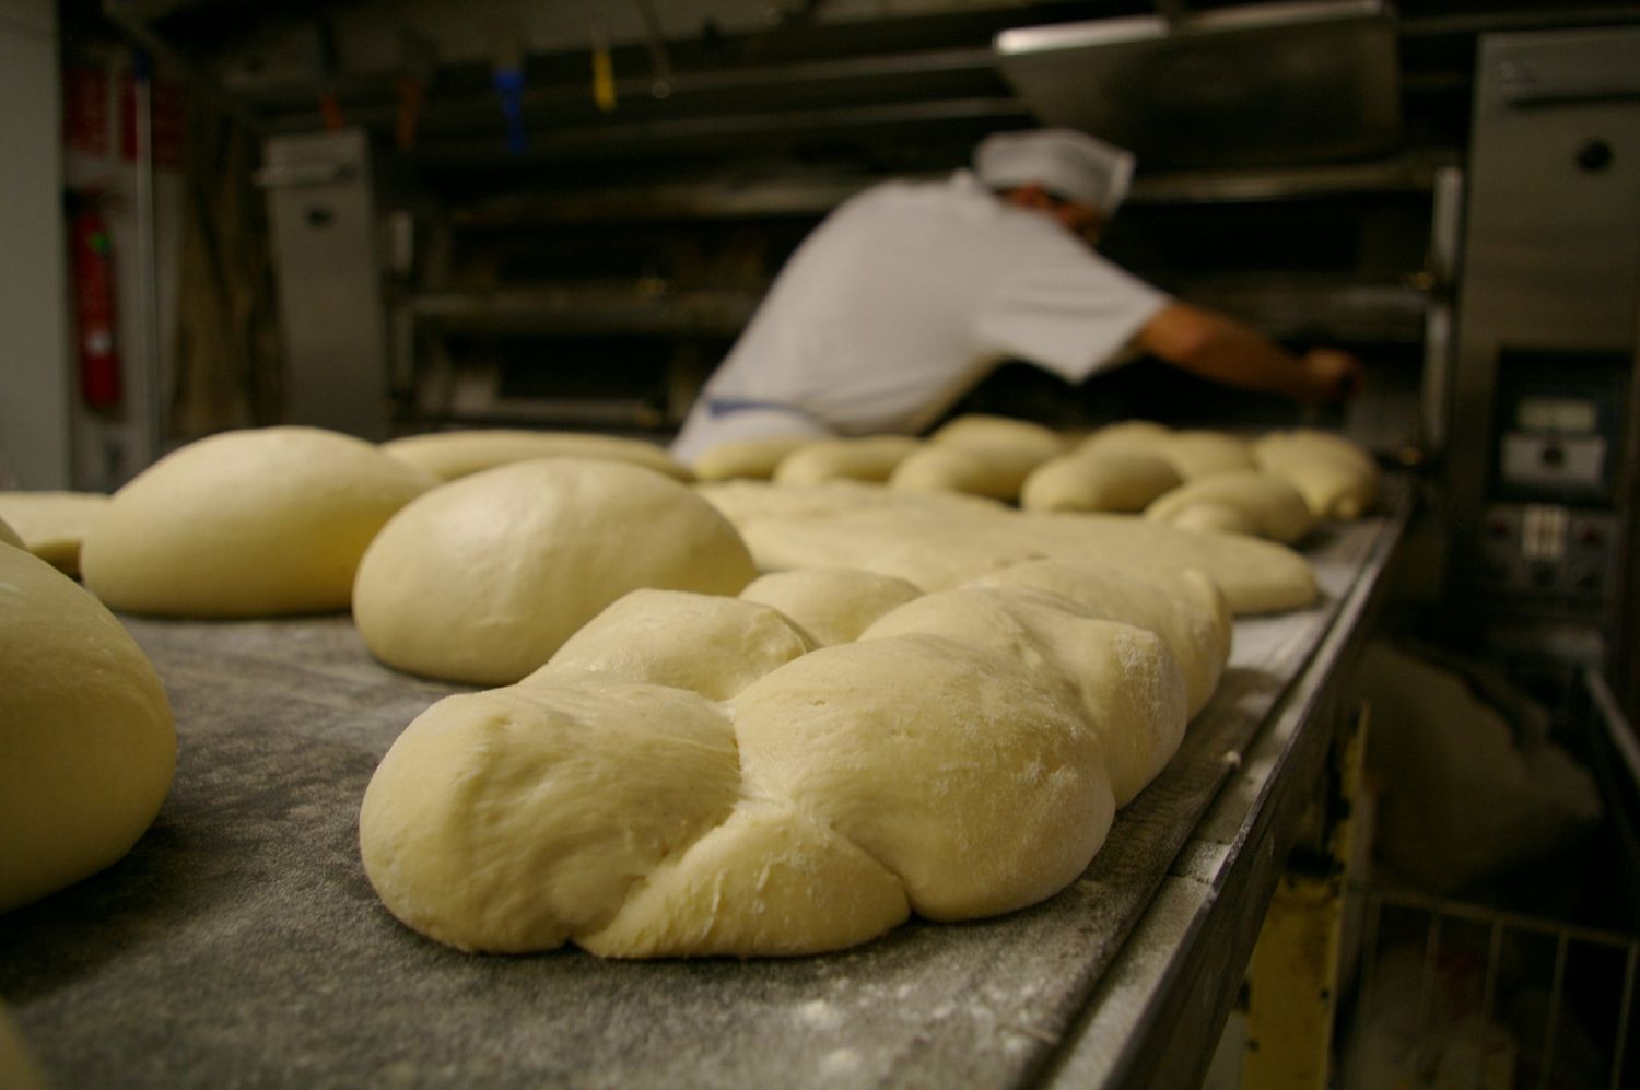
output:
[[[376,664],[344,616],[125,618],[175,706],[175,783],[125,861],[0,918],[0,997],[64,1087],[1030,1083],[1235,756],[1296,679],[1330,669],[1315,649],[1402,521],[1312,539],[1323,602],[1237,623],[1219,693],[1069,888],[790,961],[479,957],[421,939],[366,882],[358,811],[397,733],[454,688]],[[1166,938],[1164,921],[1146,929]]]

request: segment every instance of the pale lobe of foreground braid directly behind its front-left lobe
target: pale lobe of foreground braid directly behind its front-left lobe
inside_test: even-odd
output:
[[[597,674],[727,700],[813,647],[807,633],[768,605],[687,590],[633,590],[520,684]]]

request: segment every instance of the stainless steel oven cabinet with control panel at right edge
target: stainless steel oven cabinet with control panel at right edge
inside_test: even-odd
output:
[[[1640,31],[1481,41],[1445,490],[1451,616],[1635,685]]]

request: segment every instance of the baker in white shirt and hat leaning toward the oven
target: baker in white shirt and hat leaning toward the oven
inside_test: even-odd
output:
[[[918,434],[1002,361],[1068,382],[1150,354],[1204,379],[1317,403],[1361,362],[1294,354],[1096,252],[1133,156],[1074,129],[986,138],[974,169],[892,180],[838,207],[774,280],[672,444]]]

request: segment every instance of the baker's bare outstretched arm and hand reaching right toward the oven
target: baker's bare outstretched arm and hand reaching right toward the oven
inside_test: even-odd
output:
[[[1294,356],[1261,333],[1187,303],[1168,303],[1138,331],[1138,346],[1202,379],[1297,402],[1335,402],[1361,387],[1361,361],[1337,349]]]

